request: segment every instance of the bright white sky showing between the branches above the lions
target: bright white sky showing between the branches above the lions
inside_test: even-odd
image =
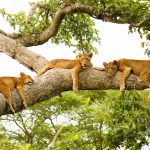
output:
[[[10,13],[19,11],[28,13],[30,10],[28,2],[31,1],[37,0],[5,0],[0,2],[0,9],[5,8]],[[9,33],[13,32],[13,29],[1,16],[0,22],[0,29]],[[101,44],[96,45],[99,54],[92,58],[94,66],[102,67],[104,61],[109,62],[120,58],[148,59],[144,55],[144,49],[141,48],[142,40],[138,33],[128,33],[128,24],[106,23],[100,20],[95,20],[95,24],[95,27],[99,30]],[[74,59],[76,55],[73,53],[73,48],[68,48],[63,44],[52,45],[50,42],[36,47],[29,47],[28,49],[43,55],[48,60],[55,58]],[[31,76],[35,75],[34,72],[29,71],[6,54],[0,53],[0,60],[0,76],[18,76],[21,71]]]

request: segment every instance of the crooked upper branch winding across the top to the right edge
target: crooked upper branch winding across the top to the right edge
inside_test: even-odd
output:
[[[33,7],[31,7],[31,10],[27,16],[27,22],[31,20],[33,12],[37,7],[39,8],[44,7],[46,10],[50,9],[50,8],[47,8],[48,7],[47,5],[34,4]],[[19,42],[25,47],[41,45],[47,42],[51,37],[54,37],[58,33],[59,26],[61,25],[62,20],[64,19],[66,14],[74,14],[76,12],[87,13],[91,17],[103,20],[105,22],[113,22],[113,23],[118,23],[118,24],[128,23],[135,27],[144,27],[150,31],[150,21],[149,21],[150,15],[148,14],[146,15],[147,17],[143,16],[143,18],[141,17],[141,18],[138,18],[137,20],[134,17],[136,15],[134,14],[135,12],[126,11],[128,8],[127,9],[124,8],[124,10],[110,10],[110,9],[104,9],[104,8],[99,8],[99,9],[100,10],[98,13],[98,12],[95,12],[93,7],[90,5],[75,3],[69,6],[59,8],[55,12],[50,26],[47,27],[46,29],[43,29],[43,31],[39,34],[33,34],[33,35],[19,38],[20,37],[18,36],[19,34],[15,34],[15,33],[8,34],[2,30],[0,31],[0,33],[10,38],[19,38],[18,39]],[[126,17],[126,15],[123,15],[124,13],[125,14],[129,13],[128,17]]]

